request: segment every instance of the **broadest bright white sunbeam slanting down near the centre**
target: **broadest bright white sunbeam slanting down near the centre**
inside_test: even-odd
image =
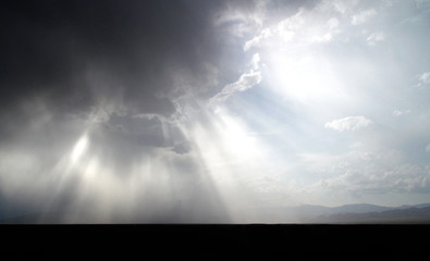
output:
[[[243,119],[221,105],[214,113],[205,113],[205,117],[208,124],[195,121],[184,133],[193,137],[197,161],[204,165],[233,222],[244,221],[245,209],[265,206],[274,197],[286,198],[285,189],[275,195],[271,189],[284,186],[274,177],[277,166],[269,160],[277,156],[269,152]]]

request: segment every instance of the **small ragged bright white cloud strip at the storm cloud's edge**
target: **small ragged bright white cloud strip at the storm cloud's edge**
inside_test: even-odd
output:
[[[221,90],[221,92],[212,97],[209,100],[209,103],[212,103],[214,101],[223,101],[236,91],[247,90],[253,86],[259,84],[261,79],[262,77],[260,72],[250,72],[247,74],[243,74],[237,82],[226,85]]]

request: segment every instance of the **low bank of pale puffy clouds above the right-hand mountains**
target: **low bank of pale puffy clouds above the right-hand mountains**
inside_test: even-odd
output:
[[[330,160],[320,154],[314,159],[321,161],[319,172],[330,173],[332,177],[322,178],[308,189],[354,197],[430,191],[430,165],[407,163],[405,157],[398,150],[377,152],[365,148],[330,157]]]

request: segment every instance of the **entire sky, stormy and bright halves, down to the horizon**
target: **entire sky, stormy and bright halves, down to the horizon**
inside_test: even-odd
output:
[[[430,202],[428,0],[0,12],[3,216],[241,223]]]

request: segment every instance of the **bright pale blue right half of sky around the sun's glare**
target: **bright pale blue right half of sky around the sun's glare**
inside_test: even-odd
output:
[[[259,84],[220,104],[270,148],[267,175],[295,202],[427,201],[429,2],[271,4],[224,22]]]

